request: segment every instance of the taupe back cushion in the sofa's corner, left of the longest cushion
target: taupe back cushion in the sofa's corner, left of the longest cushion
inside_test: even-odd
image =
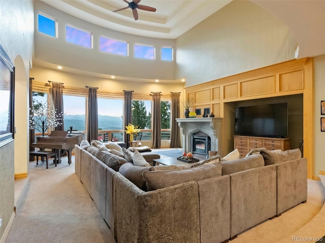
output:
[[[144,189],[145,181],[142,177],[142,173],[150,168],[151,167],[134,166],[132,163],[125,163],[121,165],[118,172],[140,189]]]

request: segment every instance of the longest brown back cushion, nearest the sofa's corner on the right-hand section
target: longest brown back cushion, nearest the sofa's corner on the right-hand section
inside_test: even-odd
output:
[[[221,176],[221,163],[207,164],[185,170],[144,171],[147,190],[152,191],[189,181],[200,181]]]

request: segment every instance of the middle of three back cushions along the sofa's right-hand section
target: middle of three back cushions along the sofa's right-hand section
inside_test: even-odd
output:
[[[221,161],[221,164],[223,176],[257,167],[263,167],[264,159],[261,154],[252,154],[240,159]]]

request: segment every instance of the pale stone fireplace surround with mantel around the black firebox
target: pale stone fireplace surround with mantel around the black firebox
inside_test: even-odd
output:
[[[222,120],[219,117],[176,118],[182,134],[182,149],[191,150],[191,135],[204,132],[211,139],[211,151],[222,152]]]

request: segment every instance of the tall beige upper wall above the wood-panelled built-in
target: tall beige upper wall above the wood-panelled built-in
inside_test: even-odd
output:
[[[233,1],[176,40],[176,78],[192,86],[295,58],[296,39],[270,12]]]

